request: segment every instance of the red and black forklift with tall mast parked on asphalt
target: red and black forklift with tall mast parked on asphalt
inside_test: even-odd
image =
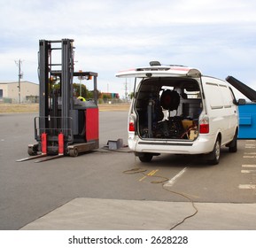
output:
[[[39,116],[34,121],[37,143],[28,145],[30,157],[17,161],[76,157],[98,149],[97,73],[74,72],[74,40],[40,40],[38,76]],[[74,77],[93,81],[93,99],[81,101],[74,96]]]

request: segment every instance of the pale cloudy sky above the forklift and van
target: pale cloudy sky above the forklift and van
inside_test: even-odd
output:
[[[256,1],[0,0],[0,81],[38,83],[39,40],[74,39],[75,71],[98,73],[120,97],[133,81],[118,71],[165,65],[236,77],[256,90]],[[92,81],[83,81],[92,89]]]

